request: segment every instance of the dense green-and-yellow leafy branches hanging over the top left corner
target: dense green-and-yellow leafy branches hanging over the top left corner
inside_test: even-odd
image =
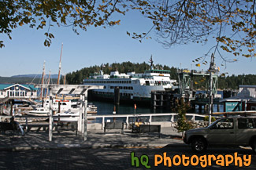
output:
[[[120,8],[117,8],[119,5]],[[0,1],[0,34],[11,39],[13,29],[28,24],[29,27],[45,29],[45,46],[50,46],[54,34],[50,27],[72,27],[87,31],[87,27],[117,25],[120,20],[110,20],[112,13],[124,14],[125,4],[118,0],[8,0]],[[122,11],[123,10],[123,11]],[[0,47],[4,46],[0,41]]]

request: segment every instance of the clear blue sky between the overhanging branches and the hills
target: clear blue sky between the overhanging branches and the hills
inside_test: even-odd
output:
[[[89,27],[87,31],[80,31],[80,35],[72,32],[72,27],[52,27],[51,33],[54,39],[50,48],[43,45],[45,30],[37,31],[27,26],[13,30],[9,40],[2,35],[6,47],[0,49],[1,67],[0,76],[9,77],[17,74],[41,74],[43,61],[46,60],[46,74],[58,74],[58,62],[63,42],[61,74],[80,70],[83,67],[100,65],[102,63],[132,63],[147,62],[153,55],[154,63],[160,63],[169,67],[191,67],[195,70],[206,70],[209,66],[195,67],[192,60],[203,56],[211,47],[207,45],[193,44],[176,45],[165,49],[154,40],[155,35],[150,34],[152,39],[143,40],[140,43],[131,37],[129,32],[145,32],[151,27],[150,20],[139,16],[138,13],[127,13],[121,16],[121,25],[107,27]],[[232,59],[232,56],[230,56]],[[209,61],[210,59],[207,59]],[[256,74],[255,58],[246,59],[240,56],[236,63],[227,63],[226,68],[221,67],[223,60],[216,59],[221,72],[228,74]]]

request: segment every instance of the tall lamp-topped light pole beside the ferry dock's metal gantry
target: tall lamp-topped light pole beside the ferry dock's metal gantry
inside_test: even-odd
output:
[[[210,59],[210,67],[209,67],[209,73],[210,73],[210,85],[209,85],[209,125],[211,123],[212,119],[212,107],[213,107],[213,73],[217,73],[219,70],[216,67],[216,64],[214,63],[214,54],[212,54]]]

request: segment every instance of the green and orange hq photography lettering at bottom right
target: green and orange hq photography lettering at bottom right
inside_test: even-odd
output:
[[[251,155],[238,156],[237,152],[234,154],[204,154],[204,155],[191,155],[186,156],[185,154],[176,154],[173,157],[169,157],[166,152],[162,154],[154,154],[153,164],[149,162],[149,157],[146,154],[140,157],[135,156],[135,153],[131,153],[131,165],[133,167],[144,166],[145,168],[151,168],[152,166],[158,167],[158,165],[164,165],[166,167],[174,166],[201,166],[206,168],[207,166],[212,166],[213,164],[219,165],[221,167],[228,167],[229,165],[235,165],[238,167],[248,167],[251,163]]]

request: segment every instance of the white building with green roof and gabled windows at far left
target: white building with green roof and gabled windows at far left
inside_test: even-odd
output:
[[[10,98],[32,98],[37,97],[37,88],[34,85],[8,85],[0,84],[0,99],[9,96]]]

